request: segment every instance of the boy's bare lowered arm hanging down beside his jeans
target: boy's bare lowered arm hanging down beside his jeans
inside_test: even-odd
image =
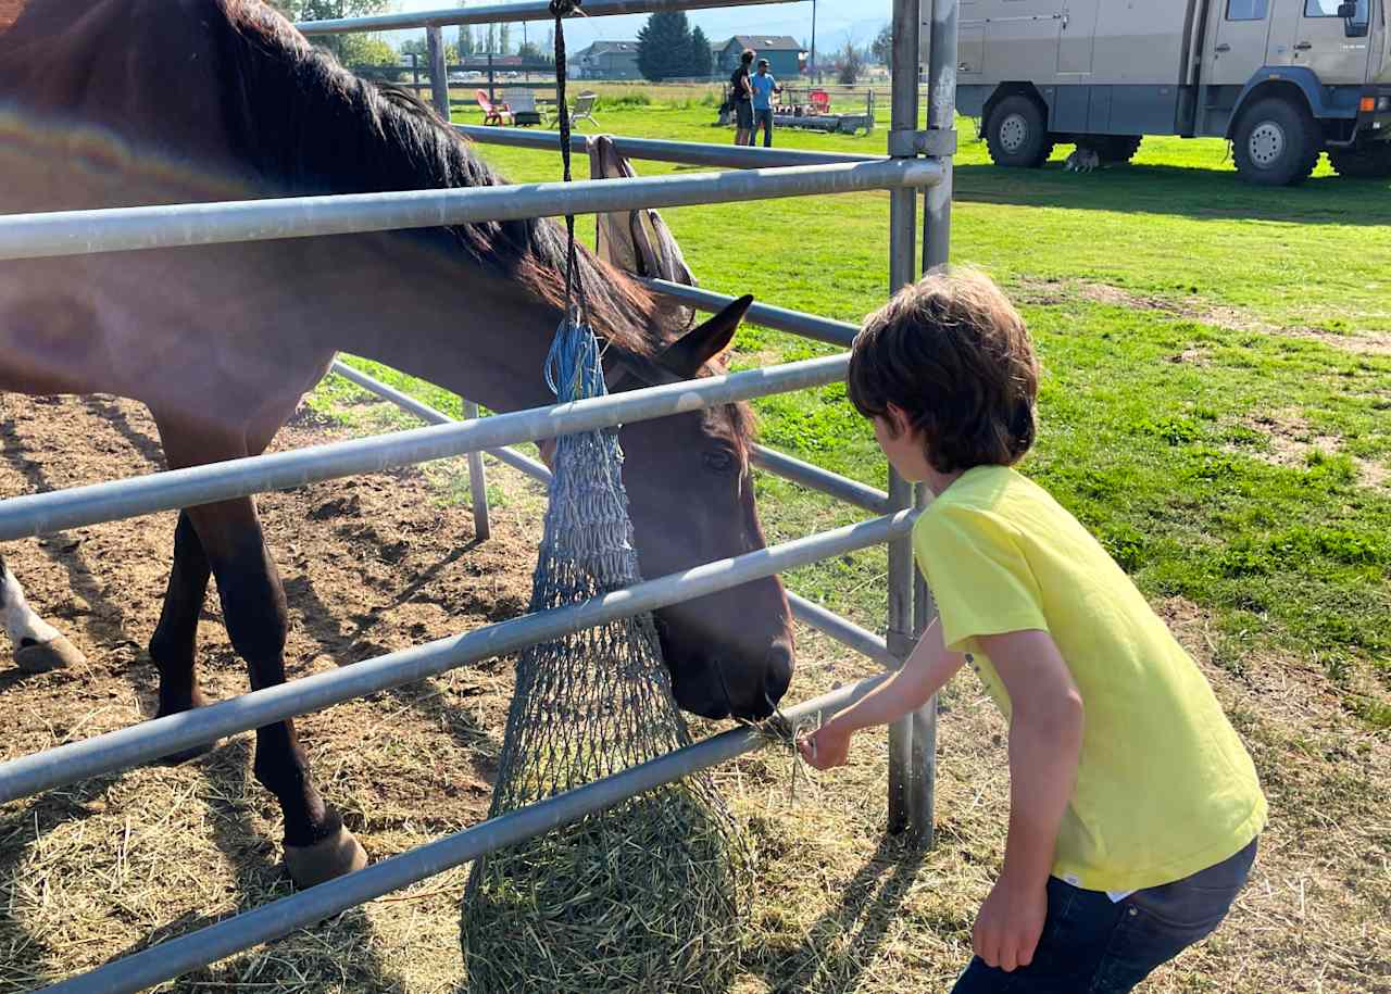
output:
[[[1010,834],[1004,869],[981,905],[975,952],[1013,970],[1034,959],[1047,877],[1082,751],[1082,696],[1046,631],[981,635],[1010,694]]]

